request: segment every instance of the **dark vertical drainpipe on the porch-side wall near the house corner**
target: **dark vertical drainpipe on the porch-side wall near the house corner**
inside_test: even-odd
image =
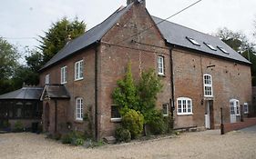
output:
[[[98,42],[97,42],[98,44]],[[98,70],[97,70],[97,65],[98,65],[98,50],[97,50],[97,47],[98,45],[95,46],[95,139],[98,141],[99,140],[99,135],[98,135],[98,124],[97,124],[97,114],[98,114],[98,110],[97,110],[97,93],[98,93],[98,90],[97,90],[97,73],[98,73]]]

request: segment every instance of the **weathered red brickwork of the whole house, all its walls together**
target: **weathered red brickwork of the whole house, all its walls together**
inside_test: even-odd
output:
[[[174,101],[175,128],[205,127],[205,109],[209,100],[212,101],[210,128],[220,127],[220,107],[223,107],[224,122],[230,122],[230,99],[238,99],[241,104],[248,103],[250,107],[250,66],[211,57],[200,52],[185,51],[183,48],[175,47],[171,50],[159,33],[159,29],[154,25],[144,5],[132,5],[129,11],[119,18],[117,24],[101,38],[98,45],[81,50],[41,72],[41,86],[45,84],[46,75],[50,75],[50,84],[60,84],[60,69],[67,65],[67,84],[65,85],[70,94],[69,100],[48,99],[44,101],[44,130],[55,131],[55,104],[57,104],[56,128],[58,132],[67,131],[67,123],[70,123],[73,130],[93,134],[96,133],[95,126],[97,125],[99,138],[113,135],[119,123],[111,122],[111,104],[113,104],[111,96],[117,87],[118,79],[124,77],[129,61],[136,82],[141,73],[150,68],[158,73],[159,55],[164,57],[165,74],[160,76],[164,87],[158,95],[157,107],[162,109],[162,104]],[[148,30],[138,34],[145,29]],[[128,38],[131,35],[134,36]],[[82,80],[75,81],[74,65],[79,60],[84,61],[84,77]],[[204,74],[212,76],[212,98],[204,97]],[[76,120],[77,97],[83,98],[83,111],[92,118],[90,123]],[[179,97],[189,97],[192,100],[193,114],[177,114],[177,98]],[[46,103],[49,104],[49,108],[46,107]],[[240,116],[237,116],[237,120],[239,119]]]

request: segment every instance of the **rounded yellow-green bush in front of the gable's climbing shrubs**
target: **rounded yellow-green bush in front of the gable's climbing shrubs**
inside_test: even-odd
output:
[[[129,109],[122,117],[122,126],[129,131],[131,138],[138,137],[143,131],[144,117],[138,111]]]

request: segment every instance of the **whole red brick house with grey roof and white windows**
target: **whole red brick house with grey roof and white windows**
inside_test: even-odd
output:
[[[111,94],[129,60],[136,79],[156,70],[164,84],[157,107],[166,115],[175,108],[175,128],[218,128],[220,107],[228,123],[250,112],[251,63],[217,37],[149,15],[145,5],[128,1],[40,70],[45,131],[113,135],[120,117]]]

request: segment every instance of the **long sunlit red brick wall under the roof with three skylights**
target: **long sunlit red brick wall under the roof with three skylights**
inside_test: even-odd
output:
[[[203,74],[210,74],[213,83],[213,118],[220,125],[220,107],[225,122],[230,122],[230,99],[251,105],[251,68],[220,58],[174,49],[173,70],[175,89],[175,127],[204,126],[206,100],[203,93]],[[215,65],[207,68],[208,65]],[[192,99],[193,115],[177,115],[177,98]],[[203,104],[201,104],[203,100]]]

